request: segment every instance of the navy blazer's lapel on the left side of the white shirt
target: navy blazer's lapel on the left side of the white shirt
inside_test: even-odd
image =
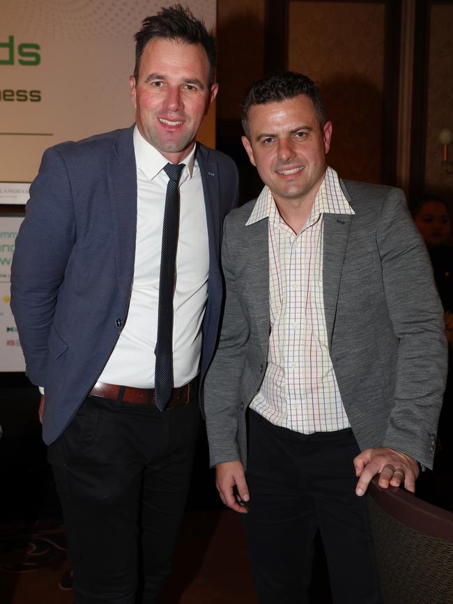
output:
[[[109,193],[116,228],[116,273],[125,313],[134,274],[137,235],[137,168],[133,132],[133,125],[120,132],[108,162]]]

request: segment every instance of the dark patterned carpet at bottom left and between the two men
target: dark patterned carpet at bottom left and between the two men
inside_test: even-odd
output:
[[[0,533],[2,604],[70,604],[70,562],[64,529],[38,522]],[[62,586],[63,587],[63,586]],[[239,518],[220,510],[188,511],[162,604],[256,604]]]

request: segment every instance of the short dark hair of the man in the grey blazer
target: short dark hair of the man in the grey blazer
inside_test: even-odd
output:
[[[245,135],[249,137],[249,109],[252,105],[261,105],[270,102],[294,98],[304,94],[312,100],[316,116],[321,127],[325,124],[325,111],[321,93],[316,84],[302,73],[285,71],[268,75],[254,82],[245,93],[241,104],[242,123]]]

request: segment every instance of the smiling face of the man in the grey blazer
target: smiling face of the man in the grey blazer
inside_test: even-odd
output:
[[[325,173],[332,124],[323,128],[306,95],[252,105],[243,144],[277,203],[314,202]]]

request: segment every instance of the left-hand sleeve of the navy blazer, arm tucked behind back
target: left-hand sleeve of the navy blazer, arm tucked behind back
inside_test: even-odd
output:
[[[74,243],[74,209],[66,164],[56,148],[49,148],[30,187],[11,267],[11,309],[26,374],[36,385],[45,384],[47,341],[56,297]]]

